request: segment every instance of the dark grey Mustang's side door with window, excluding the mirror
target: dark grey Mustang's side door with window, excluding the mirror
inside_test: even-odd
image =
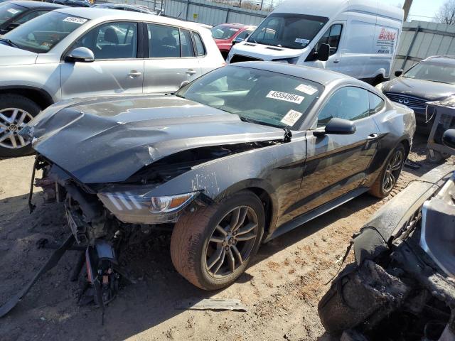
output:
[[[319,129],[338,117],[355,122],[350,135],[307,134],[306,163],[299,191],[299,214],[358,189],[378,150],[380,131],[370,117],[369,92],[342,87],[333,92],[318,115]]]

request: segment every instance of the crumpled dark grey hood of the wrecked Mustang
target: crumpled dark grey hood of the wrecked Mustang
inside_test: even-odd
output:
[[[127,180],[165,156],[201,146],[283,139],[279,128],[176,96],[57,104],[28,128],[33,148],[82,183]]]

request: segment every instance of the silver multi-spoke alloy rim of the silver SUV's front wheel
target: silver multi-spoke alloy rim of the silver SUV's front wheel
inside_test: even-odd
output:
[[[29,139],[24,139],[18,134],[29,121],[33,119],[23,109],[6,108],[0,110],[0,147],[22,148],[30,144]]]

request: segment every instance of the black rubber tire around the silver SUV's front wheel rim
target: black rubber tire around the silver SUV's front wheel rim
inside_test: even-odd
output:
[[[18,94],[2,94],[0,95],[0,111],[6,108],[17,108],[25,112],[28,112],[32,117],[41,112],[41,107],[38,106],[35,102],[27,97],[23,97]],[[33,154],[33,148],[31,144],[21,148],[6,148],[0,146],[0,157],[17,157],[17,156],[26,156]]]

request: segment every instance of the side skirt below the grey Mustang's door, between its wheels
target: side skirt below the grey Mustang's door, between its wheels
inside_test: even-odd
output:
[[[341,206],[350,200],[353,200],[355,197],[358,197],[359,195],[362,195],[363,193],[368,192],[368,190],[369,190],[369,188],[357,188],[355,190],[351,190],[350,192],[346,193],[345,195],[341,195],[341,197],[338,197],[334,200],[327,202],[324,205],[316,207],[314,210],[311,210],[310,212],[306,212],[303,215],[296,217],[294,220],[291,220],[289,222],[282,224],[282,226],[275,229],[272,234],[269,234],[267,236],[267,238],[264,239],[263,242],[267,243],[267,242],[271,241],[272,239],[277,238],[277,237],[281,236],[282,234],[289,232],[292,229],[295,229],[296,227],[301,226],[302,224],[305,224],[306,222],[309,222],[310,220],[314,220],[314,218],[317,218],[320,215],[323,215],[324,213],[331,211],[334,208]]]

